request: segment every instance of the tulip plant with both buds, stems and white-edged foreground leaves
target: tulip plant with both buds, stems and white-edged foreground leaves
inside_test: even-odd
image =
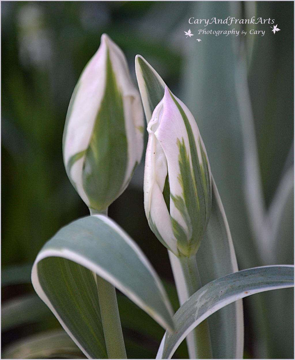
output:
[[[135,71],[140,93],[123,52],[102,35],[74,89],[63,136],[66,173],[90,215],[41,249],[34,289],[88,358],[126,358],[115,288],[165,329],[158,359],[171,358],[185,338],[192,359],[242,358],[241,299],[294,286],[294,268],[238,271],[193,114],[139,55]],[[107,216],[142,157],[143,113],[144,210],[169,253],[180,303],[175,314],[147,257]]]

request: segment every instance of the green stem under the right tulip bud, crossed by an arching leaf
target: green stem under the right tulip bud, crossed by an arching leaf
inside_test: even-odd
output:
[[[179,262],[183,270],[188,297],[190,297],[202,287],[197,261],[195,256],[181,256]],[[192,331],[190,337],[194,344],[194,349],[189,348],[190,353],[194,350],[194,354],[190,354],[190,357],[193,357],[194,359],[212,359],[211,340],[207,319],[202,321],[202,323]]]

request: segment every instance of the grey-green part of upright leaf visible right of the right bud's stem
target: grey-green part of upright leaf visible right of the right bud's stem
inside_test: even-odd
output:
[[[229,225],[214,180],[211,216],[196,258],[202,285],[238,271]],[[208,319],[208,322],[213,357],[223,359],[243,357],[242,301],[236,301],[218,311]]]

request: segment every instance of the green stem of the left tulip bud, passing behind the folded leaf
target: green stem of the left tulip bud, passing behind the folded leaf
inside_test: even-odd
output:
[[[107,209],[97,212],[89,208],[91,215],[101,214],[107,216]],[[127,359],[124,338],[122,333],[119,309],[117,304],[116,289],[100,276],[95,275],[100,304],[101,322],[107,357],[109,359]]]

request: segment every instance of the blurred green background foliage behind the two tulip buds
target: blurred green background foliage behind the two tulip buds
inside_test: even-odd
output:
[[[273,34],[271,25],[257,24],[254,28],[265,30],[265,35],[251,36],[251,27],[236,24],[236,30],[248,31],[245,37],[217,37],[197,35],[204,27],[188,23],[190,17],[215,16],[271,18],[275,19],[272,26],[278,24],[281,30]],[[184,31],[189,28],[195,35],[186,39]],[[212,25],[213,30],[228,28],[232,27]],[[33,296],[27,283],[38,251],[61,226],[88,215],[66,176],[61,141],[72,91],[102,33],[126,54],[135,83],[134,57],[140,54],[194,114],[240,269],[292,264],[293,2],[1,1],[1,261],[2,281],[7,284],[2,288],[3,305]],[[202,42],[197,42],[197,37]],[[249,158],[253,142],[248,144],[247,139],[254,139],[254,149],[257,147]],[[245,159],[250,159],[250,165],[257,161],[260,179],[255,171],[246,170]],[[153,236],[144,216],[142,184],[143,162],[128,189],[110,206],[109,216],[146,253],[177,308],[166,249]],[[257,203],[251,197],[255,191],[246,188],[247,184],[255,184],[254,189],[260,191],[261,198],[254,196]],[[278,188],[285,197],[280,197]],[[272,217],[276,210],[279,215]],[[256,211],[262,214],[261,227],[253,225]],[[264,245],[259,234],[266,239]],[[273,240],[268,246],[270,237]],[[294,357],[293,293],[289,290],[244,301],[246,357]],[[130,304],[123,297],[119,301],[127,355],[154,357],[163,331]],[[262,308],[267,308],[265,314]],[[9,314],[5,311],[2,321]],[[13,310],[15,323],[11,320],[2,329],[4,347],[41,330],[60,327],[46,310],[34,321],[21,320],[17,311]],[[150,334],[138,318],[150,323]],[[266,328],[269,331],[263,333]],[[176,356],[187,356],[185,346]]]

